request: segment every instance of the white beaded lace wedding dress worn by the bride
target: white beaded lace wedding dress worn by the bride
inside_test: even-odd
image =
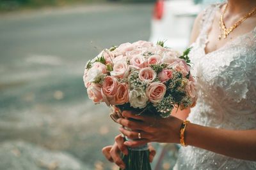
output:
[[[198,101],[188,120],[222,129],[256,129],[256,27],[222,48],[205,53],[207,32],[216,10],[220,10],[220,4],[204,11],[200,35],[192,45],[190,58],[195,65],[192,73]],[[256,169],[256,162],[187,146],[180,148],[173,169],[248,170]]]

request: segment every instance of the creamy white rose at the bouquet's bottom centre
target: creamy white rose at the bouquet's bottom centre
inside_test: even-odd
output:
[[[148,97],[142,89],[136,88],[129,92],[129,102],[134,108],[145,108],[147,106]]]

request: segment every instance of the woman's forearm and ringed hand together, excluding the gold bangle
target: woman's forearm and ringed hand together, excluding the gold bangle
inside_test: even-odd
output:
[[[175,117],[156,118],[134,115],[124,111],[125,118],[118,123],[129,127],[132,131],[120,128],[120,131],[135,141],[125,141],[127,146],[139,146],[148,142],[179,143],[182,120]],[[137,119],[133,121],[131,119]],[[138,132],[142,139],[138,139]],[[231,131],[204,127],[189,123],[185,131],[185,143],[205,150],[220,153],[237,159],[256,160],[256,130]]]

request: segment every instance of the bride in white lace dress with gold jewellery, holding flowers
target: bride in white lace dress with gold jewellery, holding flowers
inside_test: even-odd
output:
[[[195,65],[196,106],[157,120],[124,111],[126,118],[118,123],[132,131],[120,127],[120,132],[136,140],[124,142],[116,136],[113,146],[102,149],[107,159],[124,169],[119,153],[127,153],[127,146],[181,142],[174,169],[256,169],[255,13],[255,0],[228,0],[202,11],[195,20],[189,56]],[[150,151],[152,160],[151,146]]]

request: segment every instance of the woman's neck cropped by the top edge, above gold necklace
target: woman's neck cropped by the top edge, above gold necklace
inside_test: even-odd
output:
[[[228,0],[228,13],[246,13],[256,6],[255,0]]]

